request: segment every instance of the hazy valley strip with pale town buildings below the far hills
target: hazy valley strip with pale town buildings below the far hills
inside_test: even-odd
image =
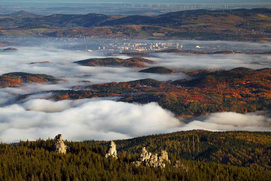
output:
[[[42,32],[41,32],[42,33]],[[44,43],[60,43],[62,49],[71,49],[78,52],[92,53],[119,53],[119,52],[155,52],[166,49],[193,50],[198,52],[217,52],[222,50],[234,51],[239,53],[260,53],[270,51],[269,45],[263,45],[259,49],[234,46],[232,44],[213,43],[183,40],[123,40],[118,38],[77,38],[77,37],[2,37],[1,41],[15,41],[26,45],[41,45]],[[38,41],[36,41],[38,40]],[[193,42],[193,43],[192,43]],[[254,47],[253,47],[254,48]]]

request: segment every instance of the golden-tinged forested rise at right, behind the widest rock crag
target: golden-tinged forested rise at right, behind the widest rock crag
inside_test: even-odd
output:
[[[193,130],[115,140],[118,151],[166,150],[185,160],[271,170],[271,132]],[[256,166],[257,165],[257,166]]]

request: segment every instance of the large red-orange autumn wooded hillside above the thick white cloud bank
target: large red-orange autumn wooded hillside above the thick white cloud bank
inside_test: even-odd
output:
[[[271,69],[234,68],[220,71],[184,71],[194,79],[157,81],[141,79],[52,90],[51,99],[121,97],[128,103],[157,102],[177,116],[202,116],[213,112],[247,113],[271,109]],[[82,90],[75,90],[75,89]],[[22,95],[18,99],[28,97]]]

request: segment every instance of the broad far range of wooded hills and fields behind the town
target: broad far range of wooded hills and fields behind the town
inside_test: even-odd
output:
[[[27,12],[1,14],[2,35],[11,35],[10,29],[40,36],[32,31],[39,28],[42,36],[74,37],[105,36],[140,37],[148,34],[163,40],[233,40],[263,41],[270,38],[269,8],[185,10],[158,16],[106,14],[52,14],[38,16]],[[14,33],[14,32],[13,32]],[[15,31],[16,33],[16,31]]]

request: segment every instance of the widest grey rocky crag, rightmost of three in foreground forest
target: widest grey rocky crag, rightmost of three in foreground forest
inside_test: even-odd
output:
[[[170,163],[170,160],[168,159],[168,156],[167,156],[167,151],[162,150],[161,156],[158,157],[157,153],[156,154],[148,153],[148,151],[146,151],[146,148],[143,147],[141,154],[139,156],[139,159],[133,163],[137,167],[142,164],[142,165],[154,167],[154,168],[158,168],[158,167],[164,168],[166,165],[165,164],[166,162]]]

